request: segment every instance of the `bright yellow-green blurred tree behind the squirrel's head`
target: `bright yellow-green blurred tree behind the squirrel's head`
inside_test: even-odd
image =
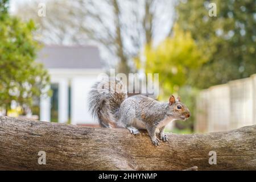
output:
[[[157,47],[146,46],[144,63],[135,60],[137,67],[144,68],[146,73],[159,73],[162,89],[160,96],[166,97],[170,93],[177,93],[180,86],[189,82],[191,72],[199,72],[200,66],[208,60],[189,32],[182,31],[177,26],[173,32],[174,35]]]

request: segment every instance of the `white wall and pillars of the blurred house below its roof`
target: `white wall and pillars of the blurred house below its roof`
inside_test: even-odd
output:
[[[68,86],[71,86],[71,124],[97,124],[89,113],[88,92],[101,69],[49,69],[51,83],[59,85],[58,120],[68,121]],[[51,120],[51,100],[40,100],[40,121]]]

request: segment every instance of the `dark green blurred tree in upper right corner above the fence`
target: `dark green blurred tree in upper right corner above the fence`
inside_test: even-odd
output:
[[[209,3],[217,16],[210,17]],[[209,56],[200,72],[193,72],[191,84],[208,88],[256,73],[255,1],[182,1],[177,6],[177,24],[190,31],[199,48]]]

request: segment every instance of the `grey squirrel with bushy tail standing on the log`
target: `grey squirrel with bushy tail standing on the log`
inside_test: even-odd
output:
[[[89,93],[89,108],[101,127],[126,128],[138,135],[138,129],[146,129],[152,143],[159,145],[159,138],[166,142],[164,127],[174,120],[185,120],[191,116],[186,105],[171,96],[169,102],[158,102],[141,94],[127,97],[126,86],[117,78],[96,82]]]

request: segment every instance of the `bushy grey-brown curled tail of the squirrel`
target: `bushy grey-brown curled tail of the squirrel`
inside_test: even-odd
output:
[[[101,127],[113,127],[118,120],[119,108],[127,98],[126,86],[117,78],[96,82],[89,93],[89,108]]]

